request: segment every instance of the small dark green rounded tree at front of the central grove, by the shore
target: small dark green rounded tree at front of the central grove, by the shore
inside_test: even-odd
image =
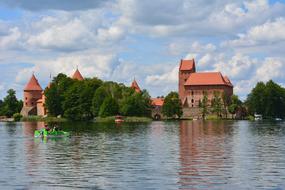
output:
[[[100,117],[114,116],[118,113],[119,113],[119,105],[117,101],[111,96],[106,97],[103,104],[100,107],[99,116]]]

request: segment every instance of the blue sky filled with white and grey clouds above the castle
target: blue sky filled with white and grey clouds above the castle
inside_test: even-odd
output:
[[[181,59],[220,71],[245,99],[258,81],[285,86],[284,0],[0,0],[0,98],[35,73],[178,88]]]

